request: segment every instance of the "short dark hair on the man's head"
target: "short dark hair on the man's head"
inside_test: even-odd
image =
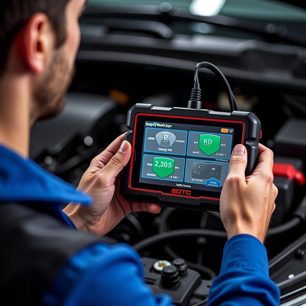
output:
[[[0,76],[17,33],[35,13],[47,15],[56,33],[56,47],[66,39],[65,7],[70,0],[0,0]]]

